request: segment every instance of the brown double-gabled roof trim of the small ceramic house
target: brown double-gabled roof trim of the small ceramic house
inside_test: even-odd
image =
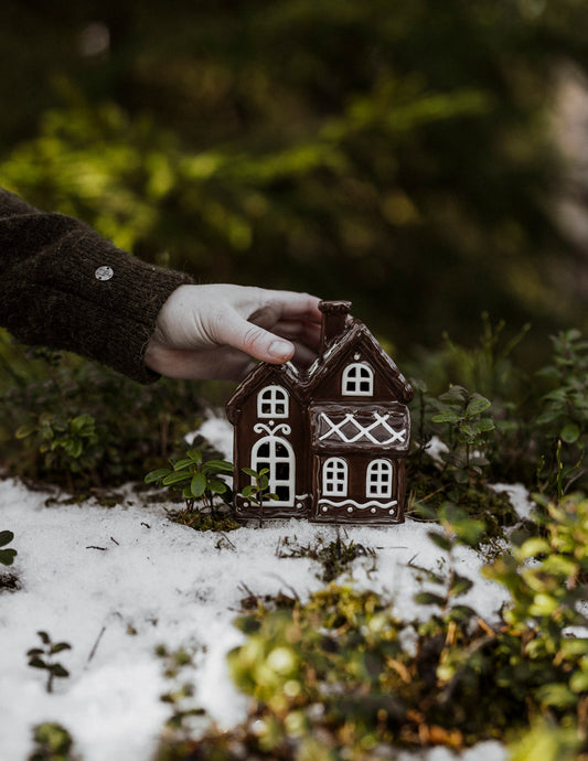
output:
[[[331,373],[338,372],[339,366],[346,361],[349,352],[354,349],[361,349],[363,354],[367,355],[365,358],[368,358],[387,379],[398,401],[404,404],[410,401],[414,396],[413,387],[396,363],[386,354],[366,325],[353,319],[348,323],[345,331],[330,343],[327,351],[308,371],[298,369],[291,362],[282,365],[259,363],[228,399],[226,411],[229,421],[234,422],[235,412],[243,399],[267,384],[271,376],[277,383],[287,386],[299,400],[308,401],[312,397],[313,389]]]

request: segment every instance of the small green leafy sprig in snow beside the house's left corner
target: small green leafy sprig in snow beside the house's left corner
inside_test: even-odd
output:
[[[228,486],[223,475],[233,473],[233,465],[226,460],[204,460],[200,449],[191,449],[185,457],[170,460],[171,468],[158,468],[145,476],[145,483],[169,486],[180,492],[188,510],[202,501],[214,513],[214,499],[226,494]]]

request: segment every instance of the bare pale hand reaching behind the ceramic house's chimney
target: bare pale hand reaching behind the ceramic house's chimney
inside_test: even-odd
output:
[[[319,299],[243,286],[180,286],[163,304],[145,355],[172,378],[240,380],[255,360],[308,366],[321,330]]]

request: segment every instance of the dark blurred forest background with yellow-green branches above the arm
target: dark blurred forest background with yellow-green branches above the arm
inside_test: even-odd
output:
[[[145,259],[586,331],[586,0],[2,0],[0,64],[0,184]]]

